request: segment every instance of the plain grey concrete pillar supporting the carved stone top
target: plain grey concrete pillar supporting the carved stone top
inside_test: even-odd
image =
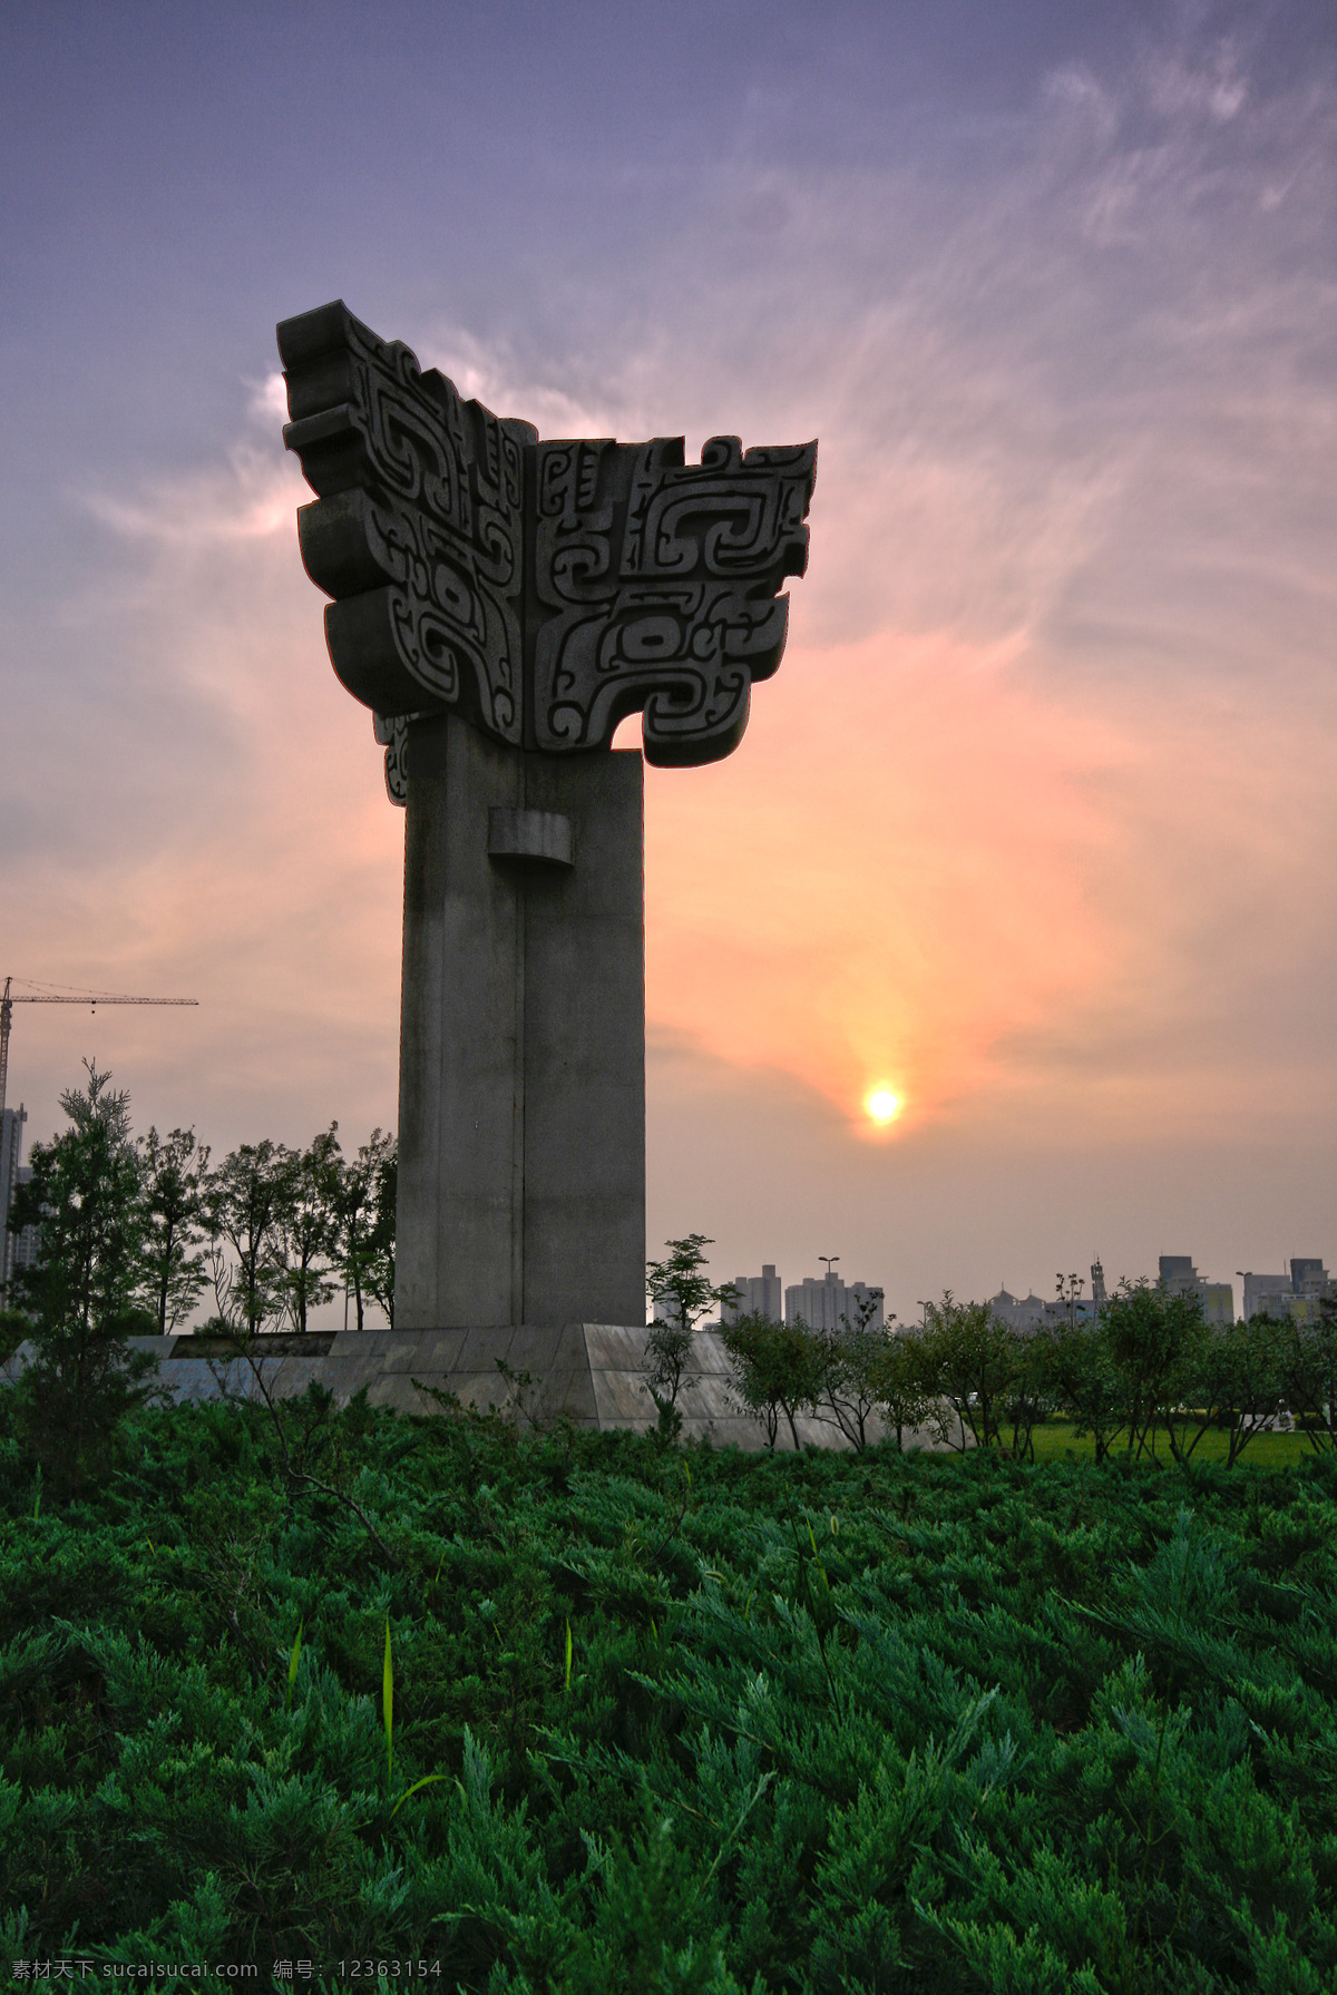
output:
[[[645,1321],[639,750],[409,728],[403,1329]]]

